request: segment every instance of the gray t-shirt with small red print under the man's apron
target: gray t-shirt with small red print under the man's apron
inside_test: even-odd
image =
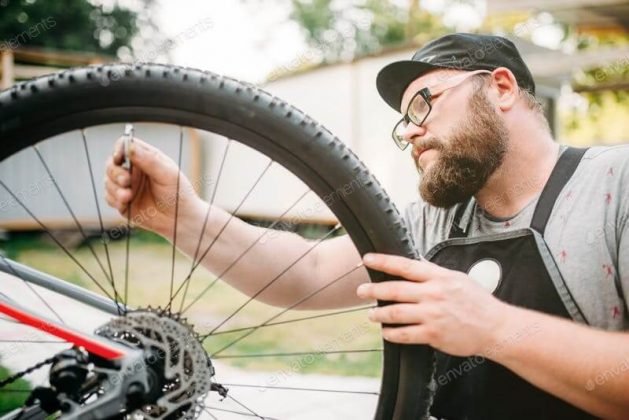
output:
[[[514,185],[514,191],[523,186]],[[468,236],[530,226],[538,199],[508,218],[473,206]],[[455,209],[421,200],[406,208],[404,219],[422,255],[447,239]],[[616,284],[629,302],[628,219],[629,144],[590,148],[557,198],[544,239],[588,323],[606,330],[629,329]]]

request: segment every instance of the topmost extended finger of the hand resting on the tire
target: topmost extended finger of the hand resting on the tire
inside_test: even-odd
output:
[[[426,260],[413,260],[398,255],[369,253],[363,256],[363,263],[371,269],[412,281],[426,281],[449,271]]]

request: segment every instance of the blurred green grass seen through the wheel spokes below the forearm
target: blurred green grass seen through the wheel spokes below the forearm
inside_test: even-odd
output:
[[[49,246],[45,239],[36,235],[13,236],[5,249],[11,249],[12,258],[77,285],[100,293],[94,284],[76,264],[62,251]],[[104,248],[98,241],[92,242],[106,266]],[[125,277],[126,241],[109,244],[109,252],[114,267],[114,280],[119,292],[123,289]],[[129,269],[129,304],[134,307],[151,305],[165,306],[170,290],[171,245],[157,235],[137,232],[131,237],[131,262]],[[85,245],[73,250],[75,257],[93,273],[94,277],[113,295],[110,285],[100,267],[94,261]],[[190,269],[190,260],[177,255],[175,282],[176,289]],[[200,268],[192,277],[186,305],[212,282],[215,277]],[[226,283],[217,282],[212,290],[199,300],[185,315],[188,322],[200,334],[209,332],[231,314],[248,297],[231,288]],[[173,309],[179,308],[180,301],[174,302]],[[246,306],[236,317],[219,331],[259,325],[283,311],[258,301]],[[288,311],[274,321],[290,320],[320,314],[314,311]],[[212,336],[205,342],[210,354],[231,343],[245,332]],[[318,373],[347,376],[378,376],[381,369],[380,352],[354,354],[322,354],[320,351],[339,351],[381,348],[379,329],[367,321],[365,311],[353,312],[334,317],[318,318],[298,323],[288,323],[260,328],[255,333],[238,341],[237,344],[221,352],[220,355],[250,355],[265,353],[308,353],[289,357],[225,358],[221,363],[231,366],[272,371],[274,374],[292,371],[295,373]]]

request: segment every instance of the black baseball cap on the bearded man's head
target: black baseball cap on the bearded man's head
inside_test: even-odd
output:
[[[495,35],[455,33],[430,41],[410,60],[396,61],[378,73],[376,86],[382,99],[400,111],[402,95],[411,82],[435,69],[495,70],[506,67],[520,89],[535,94],[535,82],[513,42]]]

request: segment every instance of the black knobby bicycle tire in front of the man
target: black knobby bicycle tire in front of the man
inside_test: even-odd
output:
[[[157,64],[104,65],[20,83],[0,93],[0,161],[57,134],[125,121],[185,124],[236,139],[284,165],[320,197],[358,179],[363,188],[339,196],[330,209],[361,255],[417,257],[394,204],[339,139],[264,90],[210,72]],[[382,273],[369,274],[374,282],[386,280]],[[432,349],[386,341],[383,348],[375,418],[427,418]]]

